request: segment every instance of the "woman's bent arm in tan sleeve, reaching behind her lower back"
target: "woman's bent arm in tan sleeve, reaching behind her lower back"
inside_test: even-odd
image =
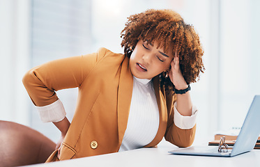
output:
[[[24,75],[23,83],[33,104],[37,106],[40,113],[49,115],[44,122],[54,122],[54,125],[61,131],[58,148],[70,127],[70,122],[65,117],[66,113],[56,91],[80,87],[100,58],[102,56],[99,57],[98,54],[63,58],[34,67]],[[50,120],[49,118],[56,116],[56,111],[63,114],[58,114],[59,119]]]

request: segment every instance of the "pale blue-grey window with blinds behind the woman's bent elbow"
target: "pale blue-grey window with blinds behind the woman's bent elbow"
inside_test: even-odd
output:
[[[58,58],[91,53],[91,1],[33,0],[31,3],[31,67]],[[71,121],[77,100],[77,88],[59,90],[67,117]],[[53,141],[60,137],[52,123],[40,121],[31,104],[31,127]]]

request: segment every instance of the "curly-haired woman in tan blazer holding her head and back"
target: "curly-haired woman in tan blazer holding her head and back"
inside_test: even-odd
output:
[[[45,63],[26,73],[24,86],[43,122],[61,131],[59,161],[194,141],[197,109],[189,84],[204,71],[193,27],[172,10],[132,15],[121,32],[124,54],[97,53]],[[79,88],[72,122],[56,91]]]

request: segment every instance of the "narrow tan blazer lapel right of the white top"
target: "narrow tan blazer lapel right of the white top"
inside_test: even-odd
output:
[[[160,122],[158,132],[155,138],[153,138],[153,141],[151,141],[151,143],[145,146],[146,148],[158,145],[158,143],[162,141],[163,136],[165,136],[165,131],[167,128],[167,105],[165,96],[162,94],[162,91],[160,90],[160,81],[158,76],[153,79],[153,87],[158,103]]]

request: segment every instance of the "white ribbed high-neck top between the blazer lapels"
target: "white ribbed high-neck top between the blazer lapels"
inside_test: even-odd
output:
[[[159,127],[159,109],[151,79],[133,79],[128,126],[119,152],[151,143]]]

